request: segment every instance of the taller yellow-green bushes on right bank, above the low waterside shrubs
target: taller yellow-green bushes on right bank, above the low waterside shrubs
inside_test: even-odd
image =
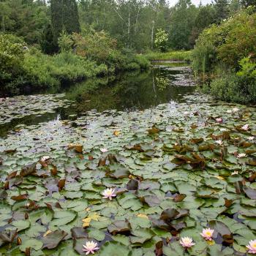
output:
[[[238,69],[239,61],[256,50],[256,14],[240,12],[221,25],[203,31],[192,52],[197,72],[209,72],[217,64]]]

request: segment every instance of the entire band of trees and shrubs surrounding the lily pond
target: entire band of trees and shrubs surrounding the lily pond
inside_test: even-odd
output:
[[[254,67],[253,6],[255,0],[214,0],[198,7],[190,0],[172,7],[165,0],[2,0],[0,86],[18,92],[143,69],[146,59],[189,60],[188,50],[197,42],[196,72],[216,78],[207,91],[253,101],[255,78],[245,75]],[[223,69],[229,72],[222,75]],[[228,93],[219,90],[228,82]]]

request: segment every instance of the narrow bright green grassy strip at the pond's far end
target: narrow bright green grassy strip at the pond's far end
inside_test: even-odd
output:
[[[190,50],[174,50],[167,53],[150,52],[143,56],[148,61],[190,61]]]

